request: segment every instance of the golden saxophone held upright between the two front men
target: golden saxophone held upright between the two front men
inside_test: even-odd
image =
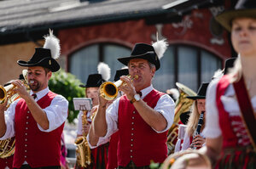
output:
[[[84,128],[85,125],[88,124],[87,121],[87,110],[83,111],[82,115],[82,126]],[[90,158],[90,146],[88,144],[88,141],[86,139],[85,131],[83,130],[83,136],[80,136],[76,138],[75,145],[77,146],[77,162],[78,165],[84,168],[89,168],[91,164],[91,158]]]

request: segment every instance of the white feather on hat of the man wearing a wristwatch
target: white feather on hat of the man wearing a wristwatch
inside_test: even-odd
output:
[[[166,39],[162,39],[162,40],[158,40],[158,33],[156,33],[156,42],[154,42],[152,44],[153,48],[154,48],[154,52],[155,54],[157,54],[158,59],[161,59],[165,52],[166,49],[168,47],[168,43],[166,42]]]

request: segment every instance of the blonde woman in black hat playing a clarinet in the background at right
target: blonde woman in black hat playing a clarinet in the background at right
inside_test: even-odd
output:
[[[207,87],[209,83],[202,83],[201,87],[199,87],[196,96],[187,96],[188,99],[193,99],[194,104],[192,105],[192,110],[189,115],[189,121],[187,124],[182,150],[184,149],[200,149],[205,143],[206,138],[203,136],[201,132],[205,127],[205,118],[203,118],[203,123],[199,124],[199,118],[201,113],[205,113],[206,107],[206,93]],[[204,114],[205,115],[205,114]],[[201,125],[201,130],[196,132],[196,128]]]

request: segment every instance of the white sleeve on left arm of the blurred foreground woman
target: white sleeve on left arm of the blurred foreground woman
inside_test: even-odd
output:
[[[218,107],[216,103],[218,81],[218,79],[213,80],[207,88],[206,127],[203,131],[206,138],[218,138],[218,136],[221,135],[221,129],[218,122]]]

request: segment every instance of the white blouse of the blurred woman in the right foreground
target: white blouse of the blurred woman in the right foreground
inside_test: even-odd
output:
[[[216,93],[219,79],[214,79],[207,88],[206,99],[206,127],[204,134],[207,138],[218,138],[222,132],[218,123],[218,107],[216,104]],[[221,96],[221,102],[224,104],[224,110],[230,116],[241,115],[239,104],[236,101],[236,93],[233,85],[229,85],[224,95]],[[251,99],[254,112],[256,111],[256,96]]]

